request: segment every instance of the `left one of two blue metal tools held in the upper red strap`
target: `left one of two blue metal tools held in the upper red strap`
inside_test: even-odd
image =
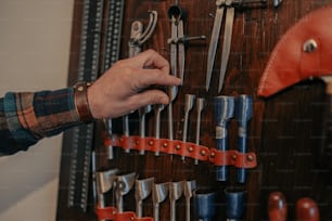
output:
[[[216,122],[216,144],[217,150],[228,150],[227,126],[234,115],[234,98],[233,96],[216,96],[214,99],[214,116]],[[228,178],[227,166],[217,167],[217,181],[226,181]]]

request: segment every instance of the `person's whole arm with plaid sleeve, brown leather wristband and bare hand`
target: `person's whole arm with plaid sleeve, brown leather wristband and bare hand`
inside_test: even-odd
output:
[[[152,104],[168,104],[167,94],[150,86],[180,86],[168,62],[153,50],[118,61],[97,81],[37,93],[7,93],[0,100],[0,153],[27,150],[44,136],[94,119],[116,118]],[[88,87],[90,86],[90,87]],[[146,89],[146,90],[145,90]]]

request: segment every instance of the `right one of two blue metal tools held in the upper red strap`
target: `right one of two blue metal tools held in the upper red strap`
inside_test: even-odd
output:
[[[235,118],[239,123],[238,150],[240,153],[247,152],[247,125],[253,116],[253,98],[251,95],[239,95],[235,99]],[[244,168],[238,169],[238,182],[245,182],[246,172]]]

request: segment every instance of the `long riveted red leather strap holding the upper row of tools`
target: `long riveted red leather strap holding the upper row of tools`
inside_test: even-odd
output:
[[[138,135],[106,138],[104,145],[118,146],[124,150],[161,152],[166,154],[176,154],[191,157],[201,161],[209,161],[215,166],[234,166],[237,168],[255,168],[257,159],[255,153],[240,153],[235,150],[219,151],[215,147],[208,148],[204,145],[197,145],[191,142],[179,140],[141,138]]]

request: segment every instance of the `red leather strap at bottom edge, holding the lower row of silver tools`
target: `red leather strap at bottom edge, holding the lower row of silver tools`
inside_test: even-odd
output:
[[[114,220],[114,221],[153,221],[151,217],[138,218],[135,212],[117,212],[115,207],[95,207],[98,220]]]

